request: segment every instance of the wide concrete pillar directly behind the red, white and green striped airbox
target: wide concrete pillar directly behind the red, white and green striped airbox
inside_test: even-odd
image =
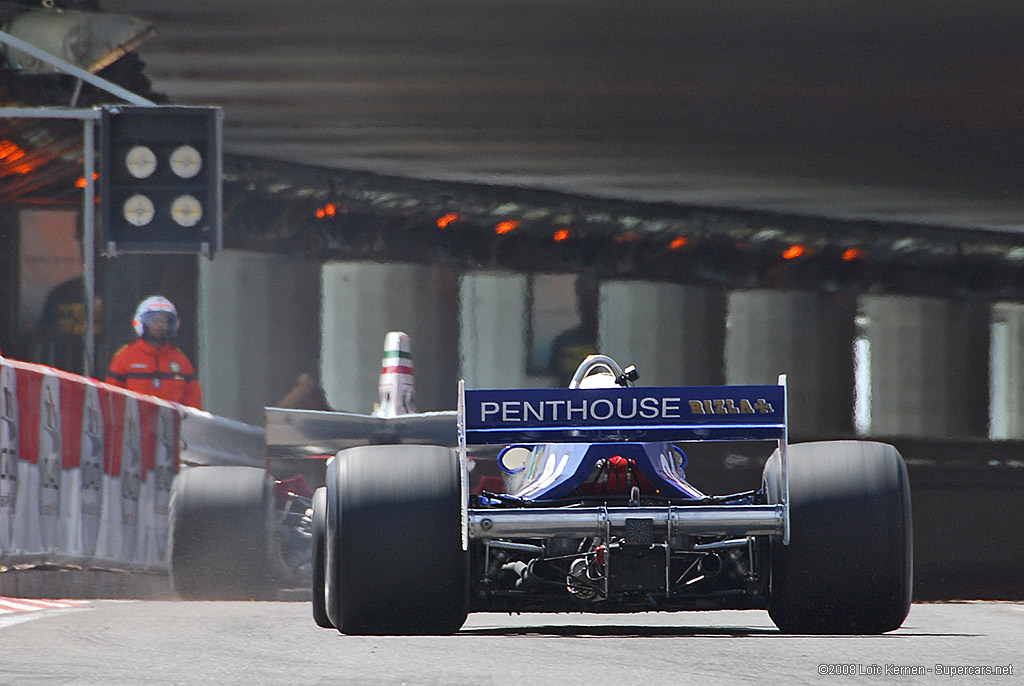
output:
[[[379,400],[384,336],[403,331],[412,339],[417,409],[454,410],[458,287],[456,272],[443,267],[325,264],[321,369],[328,401],[337,410],[371,412]]]

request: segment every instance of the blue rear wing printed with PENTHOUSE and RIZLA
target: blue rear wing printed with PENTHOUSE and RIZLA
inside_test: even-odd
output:
[[[787,399],[785,375],[774,386],[466,390],[460,381],[459,454],[465,465],[468,445],[776,440],[788,545]]]

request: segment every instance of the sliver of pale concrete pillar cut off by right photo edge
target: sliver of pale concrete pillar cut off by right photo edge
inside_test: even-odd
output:
[[[992,307],[992,438],[1024,438],[1024,305]]]

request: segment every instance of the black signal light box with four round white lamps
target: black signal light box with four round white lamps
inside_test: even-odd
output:
[[[219,108],[103,108],[99,216],[105,252],[203,253],[221,245]]]

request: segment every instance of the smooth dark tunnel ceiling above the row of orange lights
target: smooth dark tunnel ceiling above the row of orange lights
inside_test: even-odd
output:
[[[1024,228],[1024,6],[104,0],[229,154],[843,220]]]

